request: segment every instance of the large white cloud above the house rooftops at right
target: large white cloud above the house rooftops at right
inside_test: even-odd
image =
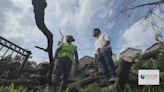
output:
[[[153,27],[152,23],[158,25],[159,30]],[[141,19],[137,21],[122,34],[121,40],[124,40],[125,43],[122,45],[120,52],[127,47],[145,50],[151,44],[155,43],[156,32],[161,31],[164,33],[163,28],[164,22],[156,15],[153,15],[147,20]]]

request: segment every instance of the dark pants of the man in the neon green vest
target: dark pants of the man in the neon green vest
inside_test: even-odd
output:
[[[72,66],[72,61],[70,59],[59,59],[57,61],[54,75],[52,76],[53,92],[57,92],[58,82],[62,74],[63,74],[62,91],[64,91],[67,88],[71,66]]]

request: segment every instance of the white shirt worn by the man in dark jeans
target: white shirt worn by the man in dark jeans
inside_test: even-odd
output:
[[[95,50],[97,52],[98,48],[103,48],[106,41],[110,41],[110,37],[107,33],[100,34],[95,41]],[[110,47],[110,45],[108,46]]]

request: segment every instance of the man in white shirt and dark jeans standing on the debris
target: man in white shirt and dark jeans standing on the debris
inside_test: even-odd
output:
[[[114,81],[115,74],[115,65],[112,59],[112,50],[110,46],[110,38],[106,33],[101,33],[99,28],[93,29],[93,37],[96,38],[95,41],[95,58],[98,61],[102,68],[104,75],[111,82]]]

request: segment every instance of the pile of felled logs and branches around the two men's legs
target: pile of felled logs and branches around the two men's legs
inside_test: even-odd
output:
[[[3,44],[2,48],[7,47],[13,50],[13,47],[8,47],[10,46],[9,44],[12,43],[8,42],[9,44],[6,45],[5,41],[6,40],[2,41],[2,39],[0,41],[1,44]],[[13,46],[16,45],[13,44]],[[0,50],[2,48],[0,48]],[[19,47],[19,49],[21,48]],[[14,51],[21,53],[17,49],[14,49],[13,52]],[[5,55],[3,55],[3,58],[0,60],[0,86],[10,86],[13,83],[15,86],[23,86],[34,91],[47,88],[49,63],[40,63],[36,65],[34,62],[30,61],[19,62],[21,59],[16,60],[11,58],[13,53],[8,56]],[[17,55],[16,57],[21,56]],[[26,57],[26,59],[28,58],[29,56]],[[119,63],[116,62],[118,64],[118,78],[113,84],[107,83],[101,71],[101,67],[93,61],[94,58],[85,56],[79,60],[78,68],[73,64],[67,92],[72,92],[71,90],[75,89],[78,89],[80,92],[122,92],[126,90],[127,83],[130,87],[137,87],[138,69],[160,69],[161,86],[164,84],[163,47],[158,50],[146,52],[142,55],[137,54],[135,57],[123,57]],[[19,71],[20,69],[21,71]]]

